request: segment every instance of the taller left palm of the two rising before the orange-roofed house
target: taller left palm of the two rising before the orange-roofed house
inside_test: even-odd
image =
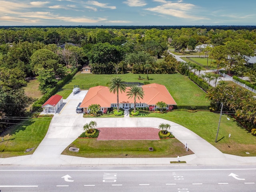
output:
[[[119,91],[122,93],[122,91],[124,92],[126,90],[126,87],[125,87],[125,84],[124,84],[124,81],[122,81],[122,78],[121,77],[113,77],[111,80],[110,80],[110,85],[109,85],[109,90],[110,92],[112,93],[116,93],[117,95],[117,111],[119,112]]]

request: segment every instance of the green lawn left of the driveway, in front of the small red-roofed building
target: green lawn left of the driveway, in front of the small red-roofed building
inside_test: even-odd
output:
[[[4,141],[0,142],[0,158],[32,154],[46,135],[51,119],[40,117],[23,120],[2,133]],[[33,151],[24,153],[33,147]]]

